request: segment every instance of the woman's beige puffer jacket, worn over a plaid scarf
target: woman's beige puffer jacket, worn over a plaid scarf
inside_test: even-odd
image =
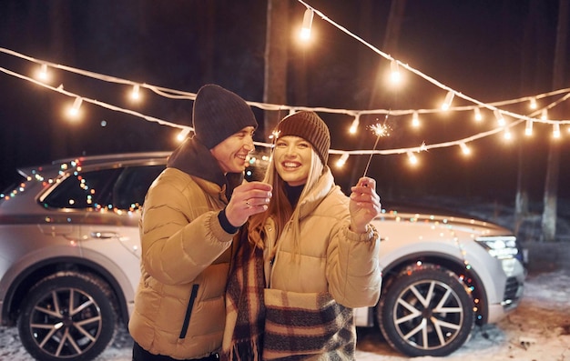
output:
[[[365,234],[349,229],[349,198],[334,185],[330,169],[300,202],[298,246],[290,226],[279,240],[271,221],[265,227],[268,287],[297,293],[328,292],[336,302],[352,308],[376,305],[382,286],[380,236],[372,226]]]

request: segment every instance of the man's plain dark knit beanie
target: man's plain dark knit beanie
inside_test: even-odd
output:
[[[239,95],[219,85],[198,90],[192,114],[195,137],[208,149],[238,133],[246,126],[258,127],[255,115]]]

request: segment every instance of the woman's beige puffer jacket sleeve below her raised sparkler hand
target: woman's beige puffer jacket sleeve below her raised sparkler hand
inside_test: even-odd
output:
[[[382,287],[379,264],[380,236],[369,225],[363,234],[352,232],[347,222],[332,230],[328,249],[329,292],[342,306],[375,306]]]

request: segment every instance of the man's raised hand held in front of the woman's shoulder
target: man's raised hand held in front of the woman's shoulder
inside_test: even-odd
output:
[[[226,206],[226,217],[231,226],[242,226],[249,216],[265,212],[270,204],[271,186],[262,182],[249,182],[237,186]]]

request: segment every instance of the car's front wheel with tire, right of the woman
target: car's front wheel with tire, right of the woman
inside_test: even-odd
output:
[[[377,306],[382,335],[407,356],[447,356],[474,326],[473,297],[453,272],[411,267],[382,291]]]

